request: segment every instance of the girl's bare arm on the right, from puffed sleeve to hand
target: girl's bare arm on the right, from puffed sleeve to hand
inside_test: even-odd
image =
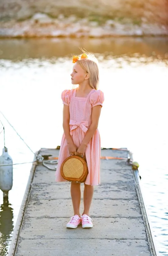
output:
[[[90,125],[89,129],[87,130],[86,135],[77,150],[77,154],[79,154],[79,155],[83,154],[83,156],[84,156],[86,146],[89,143],[89,141],[91,140],[91,138],[93,137],[93,135],[95,134],[95,131],[98,127],[98,121],[99,121],[99,117],[100,117],[101,108],[102,108],[101,105],[97,105],[92,108],[91,125]]]

